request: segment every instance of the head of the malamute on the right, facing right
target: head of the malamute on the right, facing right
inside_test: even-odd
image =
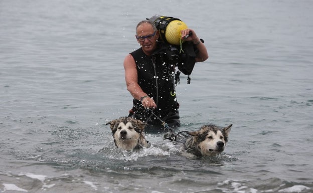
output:
[[[232,124],[221,128],[216,125],[203,125],[198,131],[187,132],[193,138],[195,150],[204,156],[213,156],[225,149]]]

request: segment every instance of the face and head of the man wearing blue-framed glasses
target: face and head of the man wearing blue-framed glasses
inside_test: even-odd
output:
[[[156,40],[158,40],[158,38],[159,32],[158,31],[154,32],[150,24],[143,23],[140,26],[138,26],[136,31],[136,39],[146,55],[149,56],[153,53],[153,51],[156,48]]]

